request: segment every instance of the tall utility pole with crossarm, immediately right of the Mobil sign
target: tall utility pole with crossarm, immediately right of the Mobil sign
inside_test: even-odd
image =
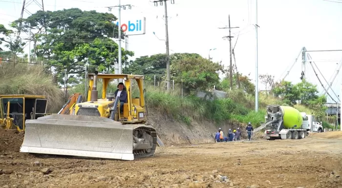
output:
[[[170,91],[170,82],[171,82],[171,75],[170,75],[170,49],[169,49],[169,27],[168,27],[168,7],[166,4],[167,0],[154,0],[154,6],[158,6],[158,2],[160,5],[163,5],[164,2],[164,9],[165,9],[165,45],[166,45],[166,77],[167,77],[167,89]],[[174,0],[171,0],[171,4],[174,4]]]

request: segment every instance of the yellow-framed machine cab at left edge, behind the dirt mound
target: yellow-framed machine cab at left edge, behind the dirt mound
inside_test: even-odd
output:
[[[47,100],[41,95],[0,95],[0,125],[25,129],[25,120],[46,114]]]

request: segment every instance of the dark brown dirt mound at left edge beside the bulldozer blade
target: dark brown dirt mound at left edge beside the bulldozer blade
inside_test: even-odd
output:
[[[23,139],[23,132],[0,128],[0,155],[19,152]]]

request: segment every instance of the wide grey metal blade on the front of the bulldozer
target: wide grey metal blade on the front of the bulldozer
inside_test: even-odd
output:
[[[94,116],[26,120],[20,152],[134,160],[133,127]]]

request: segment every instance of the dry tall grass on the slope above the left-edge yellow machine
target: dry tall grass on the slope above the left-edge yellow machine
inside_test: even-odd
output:
[[[3,63],[0,66],[0,94],[44,95],[48,113],[58,112],[65,102],[64,92],[52,82],[52,75],[40,65]]]

